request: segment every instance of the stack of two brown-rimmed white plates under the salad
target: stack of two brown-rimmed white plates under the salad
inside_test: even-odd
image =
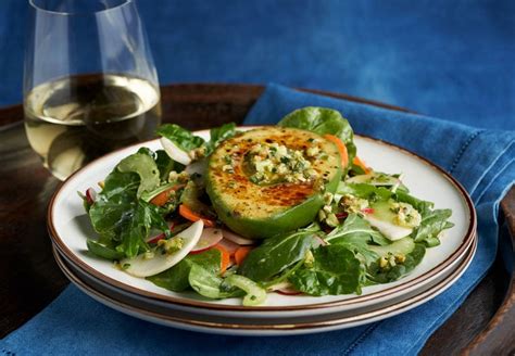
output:
[[[197,132],[208,136],[206,131]],[[152,322],[202,332],[239,335],[314,333],[360,326],[414,308],[442,293],[465,271],[477,245],[476,215],[463,187],[442,169],[398,147],[356,137],[360,156],[380,171],[404,174],[403,181],[437,208],[451,208],[454,227],[441,245],[428,249],[409,276],[388,284],[366,287],[362,295],[281,295],[269,293],[266,304],[243,307],[241,300],[211,301],[174,293],[131,277],[112,263],[87,252],[95,234],[77,191],[102,180],[139,147],[159,149],[159,141],[133,145],[89,164],[68,178],[49,206],[48,226],[55,259],[80,290],[116,310]]]

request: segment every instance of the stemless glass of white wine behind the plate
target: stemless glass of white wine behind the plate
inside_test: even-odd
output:
[[[59,179],[150,139],[161,94],[133,0],[29,0],[25,131]]]

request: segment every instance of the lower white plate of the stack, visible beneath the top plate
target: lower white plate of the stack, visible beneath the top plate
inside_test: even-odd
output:
[[[442,281],[418,291],[406,298],[362,310],[354,310],[354,313],[351,314],[335,313],[309,318],[265,318],[261,320],[177,313],[166,308],[160,308],[152,304],[148,305],[138,300],[127,300],[123,294],[113,294],[110,293],[110,290],[89,283],[87,279],[83,279],[81,276],[75,274],[73,268],[70,268],[71,266],[62,259],[56,249],[53,250],[53,253],[64,275],[83,292],[96,301],[133,317],[189,331],[226,335],[279,336],[357,327],[407,312],[436,297],[455,282],[473,260],[476,247],[477,240],[475,240],[470,249],[467,250],[465,258]]]

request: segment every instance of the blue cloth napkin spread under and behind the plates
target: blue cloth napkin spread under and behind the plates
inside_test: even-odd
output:
[[[290,111],[318,105],[349,118],[357,134],[412,150],[454,175],[478,213],[479,246],[468,270],[447,292],[372,325],[288,338],[221,336],[164,328],[127,317],[68,287],[49,307],[1,341],[25,354],[411,355],[460,306],[491,266],[498,245],[499,201],[515,180],[515,132],[475,129],[271,85],[246,124],[273,124]]]

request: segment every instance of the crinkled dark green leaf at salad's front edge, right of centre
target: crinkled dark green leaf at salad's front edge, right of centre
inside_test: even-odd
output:
[[[313,266],[303,266],[289,278],[293,287],[311,295],[361,294],[364,274],[354,253],[342,245],[326,245],[313,252]]]

